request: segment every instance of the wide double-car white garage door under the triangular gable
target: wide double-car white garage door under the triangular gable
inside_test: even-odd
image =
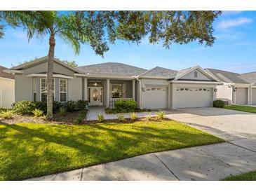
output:
[[[210,107],[213,104],[213,88],[177,88],[177,108]]]

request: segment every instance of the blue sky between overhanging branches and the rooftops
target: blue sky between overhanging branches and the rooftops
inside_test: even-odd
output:
[[[90,46],[81,47],[79,55],[56,39],[55,57],[76,61],[79,66],[100,62],[123,62],[137,67],[151,69],[166,67],[184,69],[195,65],[203,68],[217,68],[235,72],[256,71],[256,11],[224,11],[214,22],[213,47],[205,47],[196,42],[176,45],[170,49],[159,45],[149,45],[143,39],[139,45],[116,41],[115,46],[102,58],[95,55]],[[18,65],[48,53],[48,38],[27,41],[22,29],[5,28],[6,36],[0,39],[0,64],[4,67]]]

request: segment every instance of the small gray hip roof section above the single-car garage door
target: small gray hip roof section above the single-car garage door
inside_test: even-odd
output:
[[[175,78],[177,71],[166,69],[163,67],[154,67],[149,71],[140,74],[140,76],[152,76],[152,77],[167,77],[167,78]]]

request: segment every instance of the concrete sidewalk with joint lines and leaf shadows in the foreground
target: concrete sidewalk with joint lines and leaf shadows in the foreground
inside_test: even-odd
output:
[[[256,170],[256,139],[149,153],[29,180],[220,180]]]

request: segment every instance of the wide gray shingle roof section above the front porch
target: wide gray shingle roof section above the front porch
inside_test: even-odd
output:
[[[95,73],[95,74],[118,74],[121,76],[135,76],[142,74],[147,69],[134,67],[129,64],[117,63],[117,62],[105,62],[100,64],[90,64],[82,67],[77,67],[84,73]]]

